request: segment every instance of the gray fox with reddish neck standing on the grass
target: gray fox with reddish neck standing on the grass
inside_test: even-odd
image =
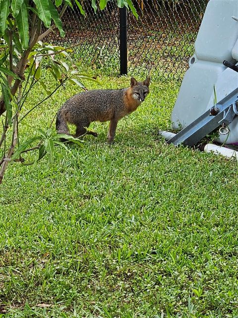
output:
[[[150,78],[144,81],[130,79],[130,87],[122,89],[95,89],[81,92],[69,98],[60,108],[56,119],[59,134],[69,135],[67,123],[76,126],[74,137],[97,133],[87,130],[93,121],[110,120],[108,142],[111,144],[119,119],[132,113],[149,93]]]

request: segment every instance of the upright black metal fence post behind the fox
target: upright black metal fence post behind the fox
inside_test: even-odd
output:
[[[127,75],[127,9],[120,8],[120,75]]]

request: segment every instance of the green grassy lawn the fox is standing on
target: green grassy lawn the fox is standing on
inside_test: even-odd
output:
[[[129,78],[101,76],[126,87]],[[46,128],[67,84],[21,128]],[[166,145],[178,82],[151,93],[98,138],[11,163],[0,186],[0,318],[238,317],[237,162]],[[26,109],[43,96],[36,87]],[[27,158],[27,156],[25,156]]]

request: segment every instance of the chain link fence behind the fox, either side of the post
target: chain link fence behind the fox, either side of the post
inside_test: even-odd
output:
[[[71,46],[76,62],[119,75],[119,8],[116,0],[94,12],[91,0],[81,0],[62,17],[65,38],[51,34],[49,42]],[[128,75],[181,80],[193,55],[194,41],[208,0],[133,0],[139,18],[127,13]]]

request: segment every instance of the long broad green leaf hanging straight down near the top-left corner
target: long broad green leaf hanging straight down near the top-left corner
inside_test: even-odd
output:
[[[16,24],[19,32],[19,37],[21,40],[22,47],[27,49],[29,43],[29,23],[28,14],[25,3],[22,3],[21,9],[16,17]]]

